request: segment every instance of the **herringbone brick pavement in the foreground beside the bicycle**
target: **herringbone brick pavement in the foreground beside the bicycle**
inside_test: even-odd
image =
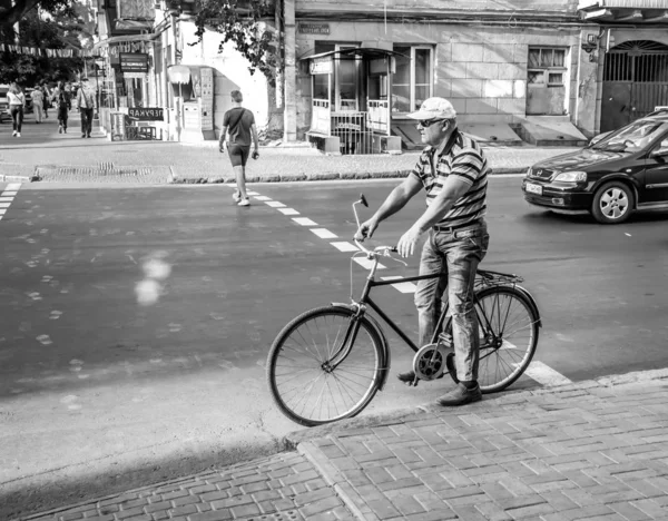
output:
[[[361,416],[286,452],[29,519],[668,520],[668,372]]]

